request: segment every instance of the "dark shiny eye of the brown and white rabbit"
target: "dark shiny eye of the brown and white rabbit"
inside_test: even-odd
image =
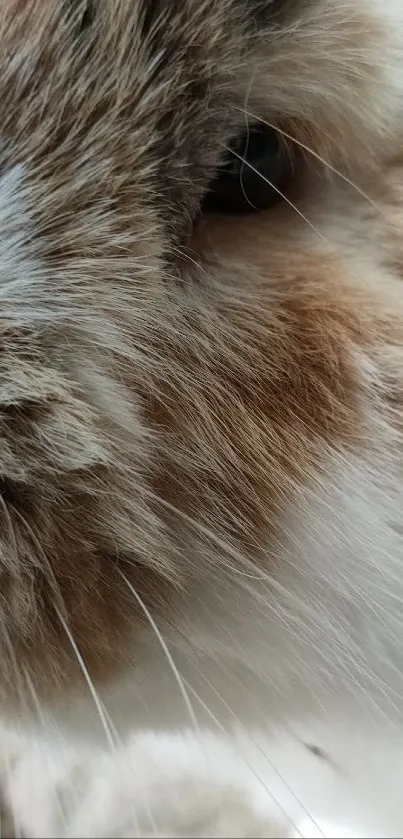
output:
[[[203,211],[242,214],[267,210],[281,200],[290,175],[289,155],[277,133],[255,123],[230,143]]]

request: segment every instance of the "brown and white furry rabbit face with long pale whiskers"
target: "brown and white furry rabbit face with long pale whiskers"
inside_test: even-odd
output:
[[[399,731],[401,0],[3,0],[0,45],[4,724]]]

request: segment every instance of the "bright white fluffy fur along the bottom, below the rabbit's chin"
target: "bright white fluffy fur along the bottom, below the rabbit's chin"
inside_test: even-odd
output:
[[[398,837],[402,772],[390,742],[336,726],[269,740],[144,732],[113,755],[25,745],[8,795],[19,829],[34,839]]]

